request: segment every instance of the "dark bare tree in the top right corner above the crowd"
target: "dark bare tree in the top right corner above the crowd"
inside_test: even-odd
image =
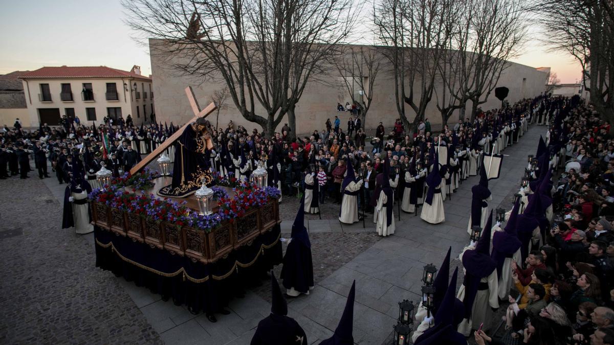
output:
[[[569,53],[582,66],[590,103],[614,121],[614,3],[611,0],[546,0],[530,7],[538,14],[553,50]],[[587,85],[588,84],[588,85]]]

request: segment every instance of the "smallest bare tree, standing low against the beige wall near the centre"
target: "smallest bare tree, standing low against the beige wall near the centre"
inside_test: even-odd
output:
[[[381,56],[376,48],[353,45],[348,46],[339,58],[333,60],[352,103],[360,104],[360,121],[363,126],[373,101],[373,85],[381,66],[380,61]]]

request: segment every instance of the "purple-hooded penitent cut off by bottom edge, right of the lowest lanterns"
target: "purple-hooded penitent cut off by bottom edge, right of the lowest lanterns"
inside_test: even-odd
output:
[[[465,336],[459,333],[456,328],[461,323],[463,318],[463,303],[456,297],[456,279],[458,276],[458,268],[454,269],[452,274],[452,280],[446,289],[445,296],[441,305],[435,314],[434,325],[427,330],[424,330],[422,334],[418,335],[419,331],[422,331],[419,327],[414,336],[418,335],[414,344],[416,345],[465,345],[467,339]],[[422,326],[422,325],[421,325]]]

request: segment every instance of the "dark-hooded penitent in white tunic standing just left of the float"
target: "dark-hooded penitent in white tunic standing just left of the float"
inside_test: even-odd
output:
[[[90,224],[90,205],[87,201],[91,193],[91,186],[83,178],[83,170],[80,164],[72,165],[72,179],[64,192],[64,212],[62,228],[75,228],[78,234],[87,234],[94,231]]]

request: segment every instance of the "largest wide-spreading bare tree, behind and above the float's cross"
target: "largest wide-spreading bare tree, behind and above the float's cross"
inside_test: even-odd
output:
[[[356,23],[355,0],[123,0],[126,23],[174,71],[222,80],[239,113],[267,134],[325,71]],[[257,110],[262,107],[263,110]],[[258,114],[262,111],[261,114]]]

